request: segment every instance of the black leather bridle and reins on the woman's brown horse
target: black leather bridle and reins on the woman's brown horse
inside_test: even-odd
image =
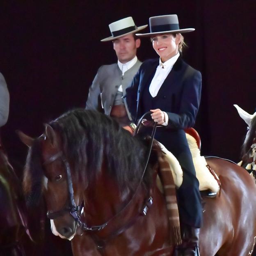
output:
[[[138,132],[139,130],[139,126],[141,125],[144,117],[146,116],[146,114],[149,114],[150,112],[145,113],[141,119],[138,122],[138,126],[135,130],[135,134]],[[153,138],[155,136],[155,130],[156,130],[156,126],[157,123],[154,124],[153,127],[153,132],[152,132],[152,136],[151,136],[151,141],[150,141],[150,147],[148,149],[148,154],[147,154],[147,160],[146,160],[146,165],[142,174],[142,177],[140,179],[139,185],[137,186],[132,198],[130,199],[130,201],[128,201],[128,203],[126,204],[126,206],[124,206],[116,215],[114,215],[113,217],[111,217],[107,222],[105,222],[102,225],[98,225],[98,226],[87,226],[86,223],[82,222],[80,220],[81,217],[81,210],[83,208],[83,203],[80,206],[77,206],[74,200],[74,192],[73,192],[73,183],[72,183],[72,178],[71,178],[71,169],[70,169],[70,165],[68,160],[66,159],[64,153],[62,151],[59,151],[58,153],[56,153],[55,155],[51,156],[48,160],[46,160],[45,162],[43,162],[43,165],[48,165],[52,162],[54,162],[57,159],[61,159],[61,161],[64,163],[65,169],[66,169],[66,176],[67,176],[67,183],[68,183],[68,193],[69,193],[69,207],[67,207],[66,205],[61,209],[58,210],[56,212],[50,213],[49,211],[47,212],[47,217],[49,219],[56,219],[64,214],[66,214],[67,212],[69,212],[71,214],[71,216],[74,218],[75,222],[78,223],[78,226],[80,227],[80,229],[82,229],[83,231],[101,231],[103,230],[110,222],[112,222],[114,219],[117,219],[117,217],[119,217],[121,214],[123,214],[128,207],[131,205],[131,203],[133,202],[133,199],[135,198],[135,196],[137,195],[137,192],[139,191],[139,187],[143,181],[144,175],[146,173],[146,168],[148,166],[148,162],[149,162],[149,158],[150,158],[150,154],[151,154],[151,149],[152,149],[152,145],[153,145]],[[122,227],[121,229],[118,229],[114,232],[113,235],[118,235],[120,233],[122,233],[125,229],[127,229],[129,226],[131,226],[131,224],[133,222],[135,222],[135,219],[137,219],[137,217],[143,215],[145,216],[149,207],[153,204],[153,198],[151,197],[151,193],[149,193],[149,197],[147,197],[147,199],[145,200],[145,204],[142,207],[142,210],[130,221],[129,224],[126,224],[124,227]]]

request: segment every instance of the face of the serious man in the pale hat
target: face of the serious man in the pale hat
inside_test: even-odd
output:
[[[114,50],[121,63],[126,63],[133,59],[139,46],[140,39],[135,41],[133,34],[128,34],[113,41]]]

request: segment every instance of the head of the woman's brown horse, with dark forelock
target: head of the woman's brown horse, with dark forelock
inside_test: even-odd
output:
[[[30,147],[23,178],[23,190],[28,207],[37,206],[43,194],[53,234],[71,240],[78,225],[70,214],[72,206],[67,189],[69,180],[64,165],[60,136],[50,125],[46,125],[43,135],[36,139],[21,132],[18,135],[22,142]],[[73,180],[75,180],[74,177]],[[75,186],[73,189],[79,190]],[[75,202],[77,205],[81,203],[78,193],[76,193]]]

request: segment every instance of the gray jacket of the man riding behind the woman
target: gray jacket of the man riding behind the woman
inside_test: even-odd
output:
[[[86,102],[87,110],[98,110],[102,112],[102,108],[106,115],[110,115],[114,98],[120,85],[123,87],[123,96],[126,95],[126,88],[129,87],[134,75],[139,70],[142,62],[137,62],[128,69],[123,75],[117,63],[111,65],[103,65],[98,72],[89,89],[89,96]],[[125,97],[124,97],[125,99]],[[126,111],[130,120],[130,112],[124,100]]]

